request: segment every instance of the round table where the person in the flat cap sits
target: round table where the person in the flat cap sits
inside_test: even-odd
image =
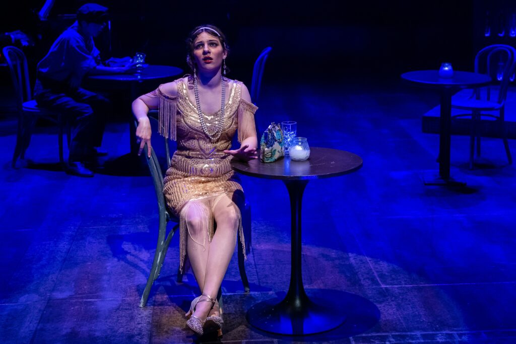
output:
[[[132,102],[141,95],[138,93],[138,86],[144,81],[171,81],[170,78],[181,73],[183,70],[178,67],[150,64],[141,73],[90,75],[87,77],[86,83],[87,87],[93,89],[128,88]],[[136,144],[136,127],[132,115],[129,117],[129,133],[131,153],[136,153],[139,146]]]

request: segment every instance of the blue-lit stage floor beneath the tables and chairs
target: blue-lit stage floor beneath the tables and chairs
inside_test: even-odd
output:
[[[247,309],[288,288],[289,203],[280,181],[242,177],[252,207],[251,292],[243,291],[235,254],[222,284],[222,342],[516,342],[516,168],[501,140],[483,139],[483,156],[469,170],[469,137],[453,136],[451,175],[467,186],[425,186],[422,178],[437,174],[439,137],[423,134],[421,121],[437,94],[312,83],[265,84],[261,96],[261,130],[296,120],[310,145],[363,158],[356,173],[308,184],[302,264],[305,288],[372,304],[343,307],[348,320],[320,335],[251,327]],[[27,150],[34,163],[11,169],[15,125],[9,114],[0,118],[0,342],[193,342],[184,313],[199,291],[191,272],[174,282],[178,236],[148,306],[138,307],[158,219],[151,178],[127,163],[127,124],[109,123],[109,156],[94,178],[60,170],[57,137],[43,134],[56,132],[48,125]],[[516,142],[509,144],[516,155]]]

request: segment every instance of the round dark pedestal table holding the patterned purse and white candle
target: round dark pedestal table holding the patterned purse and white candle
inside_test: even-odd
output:
[[[284,334],[306,335],[334,329],[345,321],[342,309],[336,309],[335,300],[317,295],[309,298],[303,287],[301,273],[301,201],[310,179],[329,178],[357,171],[362,167],[358,155],[312,147],[310,159],[293,161],[288,157],[275,162],[260,160],[232,162],[238,173],[285,183],[291,202],[291,280],[286,297],[267,300],[253,305],[248,322],[260,330]]]

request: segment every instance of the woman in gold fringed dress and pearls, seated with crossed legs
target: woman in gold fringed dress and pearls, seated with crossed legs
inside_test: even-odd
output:
[[[215,297],[233,255],[237,231],[245,250],[240,216],[244,192],[230,161],[257,158],[257,107],[245,85],[225,77],[229,49],[220,29],[196,27],[187,42],[187,62],[193,73],[140,96],[133,102],[133,112],[141,140],[139,154],[145,144],[146,154],[151,154],[149,109],[159,109],[158,132],[178,142],[164,193],[169,209],[180,218],[180,269],[186,260],[201,290],[201,296],[191,302],[186,323],[202,335],[223,323]],[[241,146],[231,150],[236,131]]]

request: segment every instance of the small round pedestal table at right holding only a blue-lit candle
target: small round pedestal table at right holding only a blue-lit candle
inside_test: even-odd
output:
[[[479,73],[454,71],[453,77],[441,78],[439,71],[414,71],[401,74],[401,78],[423,87],[437,89],[441,93],[441,116],[439,136],[439,178],[425,181],[426,185],[450,185],[450,137],[451,137],[451,96],[462,88],[476,88],[491,83],[491,77]]]

